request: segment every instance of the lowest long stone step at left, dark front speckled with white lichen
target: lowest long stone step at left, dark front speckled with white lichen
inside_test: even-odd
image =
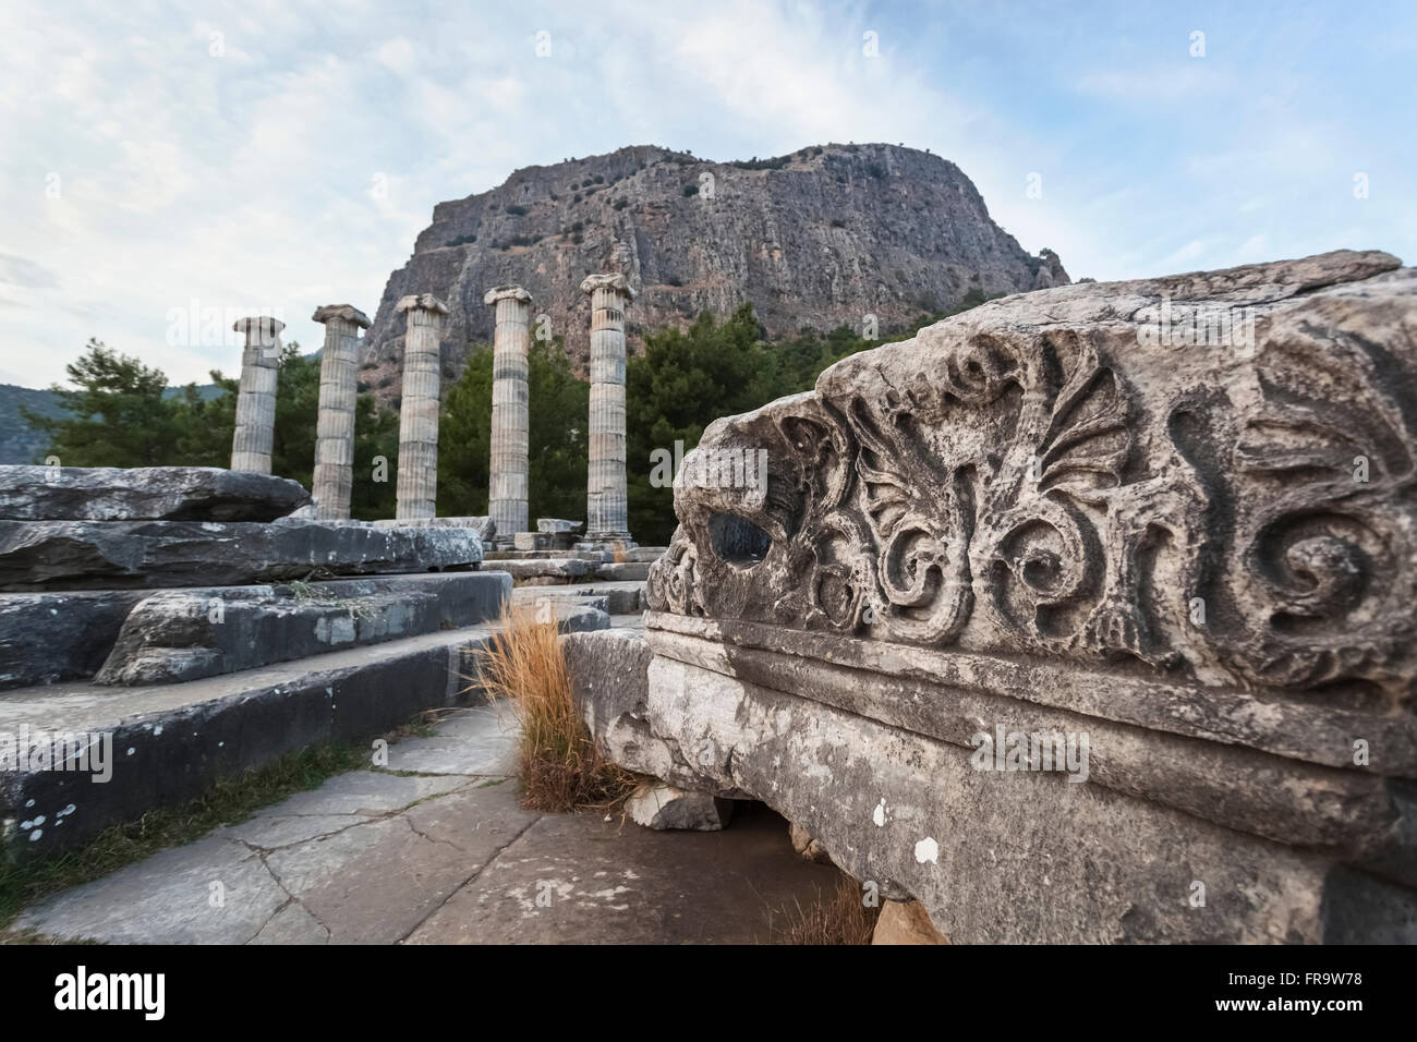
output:
[[[555,614],[563,632],[609,625],[574,603]],[[186,683],[0,695],[0,858],[74,849],[286,753],[482,702],[473,654],[495,634],[465,627]]]

